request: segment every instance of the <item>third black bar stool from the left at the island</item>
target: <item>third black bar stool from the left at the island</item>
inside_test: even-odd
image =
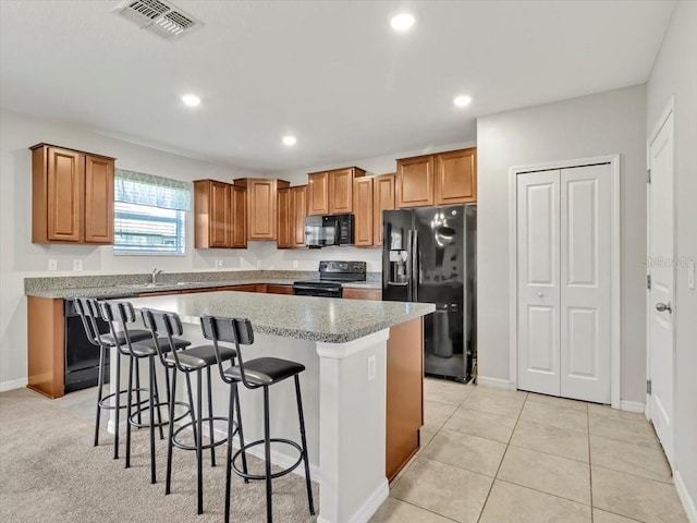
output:
[[[197,478],[198,478],[198,513],[204,512],[204,474],[203,474],[203,451],[210,449],[211,466],[216,466],[216,450],[215,448],[227,441],[227,438],[216,440],[213,435],[213,422],[228,422],[229,419],[223,416],[215,416],[212,408],[212,390],[210,380],[210,367],[216,364],[217,354],[212,345],[200,345],[185,349],[183,351],[174,350],[174,336],[182,336],[182,321],[176,313],[170,313],[166,311],[155,311],[149,308],[143,308],[140,311],[143,315],[143,323],[146,328],[150,329],[152,337],[162,337],[170,343],[170,352],[163,355],[162,363],[166,367],[172,369],[172,384],[170,390],[170,431],[168,438],[167,449],[167,484],[164,487],[164,494],[171,491],[172,481],[172,450],[174,447],[183,450],[195,450],[197,462]],[[221,348],[218,357],[221,361],[231,361],[236,356],[236,352],[233,349]],[[207,396],[208,396],[208,417],[204,417],[203,414],[203,387],[201,387],[201,370],[206,369],[207,374]],[[186,390],[188,394],[188,406],[192,421],[181,425],[174,429],[173,412],[174,412],[174,398],[176,396],[176,375],[183,373],[186,379]],[[191,374],[196,373],[196,406],[194,406],[194,394],[191,382]],[[208,423],[209,442],[204,445],[203,430],[204,422]],[[192,429],[194,433],[194,445],[186,445],[179,441],[176,438],[183,431]]]

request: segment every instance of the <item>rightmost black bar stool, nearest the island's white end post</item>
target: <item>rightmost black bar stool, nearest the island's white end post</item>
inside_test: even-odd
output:
[[[208,340],[212,340],[213,348],[216,350],[216,356],[218,362],[218,368],[220,370],[220,377],[224,382],[230,385],[230,398],[231,401],[236,399],[237,401],[237,427],[240,430],[240,450],[232,455],[232,433],[229,429],[228,433],[228,462],[225,470],[225,523],[230,521],[230,483],[231,483],[231,469],[235,471],[241,477],[245,479],[264,479],[266,482],[266,519],[267,523],[272,523],[272,502],[271,502],[271,479],[276,477],[284,476],[285,474],[294,471],[301,462],[305,462],[305,483],[307,485],[307,502],[309,504],[310,515],[315,515],[315,503],[313,501],[313,485],[309,475],[309,462],[307,460],[307,441],[305,438],[305,417],[303,415],[303,400],[301,398],[301,382],[298,375],[305,370],[305,366],[299,363],[291,362],[289,360],[281,360],[278,357],[257,357],[245,362],[242,357],[241,345],[250,345],[254,343],[254,330],[248,319],[244,318],[216,318],[212,316],[204,315],[200,318],[200,325],[204,332],[204,337]],[[223,350],[225,348],[220,346],[218,342],[234,343],[237,353],[239,365],[230,366],[223,369]],[[299,419],[301,428],[301,441],[302,446],[298,446],[295,441],[282,438],[271,438],[270,435],[270,422],[269,422],[269,387],[278,384],[286,378],[293,377],[295,380],[295,398],[297,400],[297,415]],[[242,439],[242,421],[240,418],[240,404],[237,396],[237,384],[242,381],[247,389],[264,388],[264,439],[253,441],[250,443],[244,443]],[[232,416],[232,405],[230,406],[230,416]],[[294,447],[299,452],[298,460],[290,467],[271,474],[271,442],[285,443]],[[254,475],[247,473],[246,466],[246,451],[250,447],[264,443],[265,451],[265,465],[266,471],[264,475]],[[235,460],[242,455],[243,470],[240,470],[235,464]]]

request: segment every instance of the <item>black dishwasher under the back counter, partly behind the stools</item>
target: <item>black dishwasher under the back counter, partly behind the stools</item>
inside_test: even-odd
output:
[[[111,299],[111,296],[110,296]],[[72,300],[64,300],[65,313],[65,393],[87,389],[99,379],[99,348],[87,339],[83,320]],[[109,331],[109,325],[97,319],[99,332]],[[105,382],[109,382],[109,354],[105,368]]]

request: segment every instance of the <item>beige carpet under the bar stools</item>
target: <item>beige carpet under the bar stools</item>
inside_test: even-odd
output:
[[[0,521],[22,522],[221,522],[224,509],[224,446],[210,466],[204,461],[204,514],[196,514],[195,453],[174,450],[172,494],[164,496],[166,441],[157,439],[158,483],[149,483],[148,431],[134,431],[132,466],[112,459],[113,438],[27,389],[0,393]],[[125,438],[123,439],[125,443]],[[254,471],[260,461],[252,459]],[[231,521],[266,521],[262,482],[245,485],[233,475]],[[319,508],[314,485],[315,506]],[[305,481],[290,474],[273,482],[274,522],[314,522]]]

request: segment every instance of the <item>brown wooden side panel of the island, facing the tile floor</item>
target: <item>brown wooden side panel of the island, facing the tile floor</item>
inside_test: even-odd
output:
[[[424,321],[390,328],[387,349],[386,476],[396,477],[419,449],[424,425]]]

